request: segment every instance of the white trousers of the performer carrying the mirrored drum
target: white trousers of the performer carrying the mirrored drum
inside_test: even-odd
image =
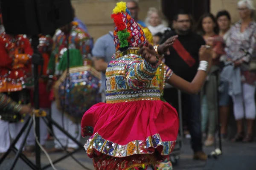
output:
[[[63,118],[63,119],[62,119]],[[52,119],[57,122],[64,130],[80,142],[81,139],[81,123],[76,124],[72,122],[65,114],[62,117],[62,112],[58,110],[56,102],[52,102]],[[64,127],[63,127],[64,125]],[[53,126],[55,137],[61,142],[64,147],[78,148],[78,145],[69,139],[64,133],[61,132],[56,126]],[[59,142],[54,139],[55,148],[61,149]]]

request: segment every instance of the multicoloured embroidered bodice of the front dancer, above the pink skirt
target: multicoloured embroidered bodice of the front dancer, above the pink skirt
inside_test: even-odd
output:
[[[136,53],[116,57],[109,63],[106,71],[106,102],[160,100],[163,88],[160,90],[157,81],[159,66],[161,68],[158,73],[163,73],[159,78],[169,79],[172,71],[167,66],[162,67],[163,64],[153,66]],[[162,72],[162,69],[168,70]]]

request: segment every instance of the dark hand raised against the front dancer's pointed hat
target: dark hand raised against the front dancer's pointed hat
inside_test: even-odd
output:
[[[139,54],[141,55],[142,58],[144,58],[150,64],[157,63],[157,54],[156,54],[156,51],[154,50],[154,47],[151,44],[147,46],[141,45]]]

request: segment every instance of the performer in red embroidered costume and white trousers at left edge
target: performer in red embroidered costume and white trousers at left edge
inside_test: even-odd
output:
[[[0,34],[0,54],[0,93],[7,94],[19,104],[28,104],[30,102],[29,89],[32,88],[31,56],[33,50],[26,35],[11,35],[5,32]],[[0,139],[4,139],[0,143],[0,153],[6,152],[10,146],[9,132],[11,137],[15,138],[23,126],[22,122],[18,122],[20,119],[16,119],[20,118],[17,113],[5,114],[13,114],[13,119],[4,119],[6,116],[3,116],[0,120]],[[15,123],[9,124],[9,121]],[[15,147],[20,147],[23,137],[21,136]]]

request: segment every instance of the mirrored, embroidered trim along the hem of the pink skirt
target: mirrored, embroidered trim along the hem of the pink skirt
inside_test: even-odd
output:
[[[154,150],[150,148],[163,147],[161,155],[169,155],[175,147],[176,141],[163,142],[159,134],[149,136],[145,141],[135,140],[125,145],[116,144],[114,142],[103,139],[99,133],[95,133],[84,144],[84,149],[89,155],[93,155],[93,150],[104,153],[113,157],[126,157],[135,154],[152,154]]]

